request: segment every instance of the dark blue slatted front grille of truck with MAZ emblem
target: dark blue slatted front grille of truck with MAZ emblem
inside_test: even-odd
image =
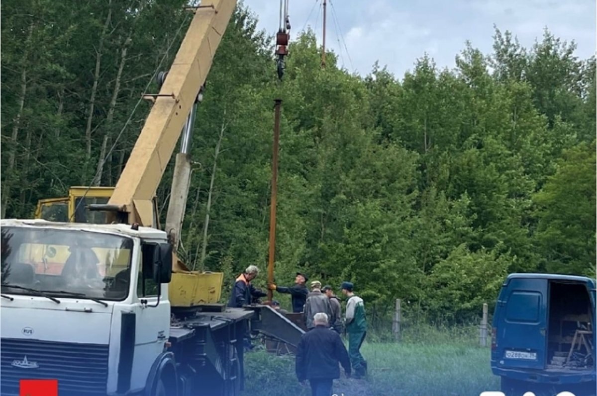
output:
[[[19,394],[20,379],[57,379],[59,394],[106,394],[108,345],[2,338],[1,393]]]

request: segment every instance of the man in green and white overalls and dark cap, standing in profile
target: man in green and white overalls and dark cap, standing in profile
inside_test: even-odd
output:
[[[367,374],[367,361],[361,355],[361,345],[367,333],[367,317],[363,299],[352,292],[353,284],[342,282],[342,294],[348,297],[346,303],[346,333],[348,334],[348,354],[352,369],[355,371],[353,378],[361,378]]]

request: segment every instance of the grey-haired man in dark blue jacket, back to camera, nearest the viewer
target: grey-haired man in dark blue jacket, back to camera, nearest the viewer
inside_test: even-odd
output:
[[[297,345],[295,371],[300,382],[309,380],[312,396],[331,396],[340,367],[350,376],[348,351],[340,336],[328,327],[328,315],[315,314],[315,328],[301,336]]]

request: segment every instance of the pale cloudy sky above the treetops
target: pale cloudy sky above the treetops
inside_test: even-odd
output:
[[[278,0],[242,0],[259,29],[278,29]],[[290,0],[291,40],[305,26],[322,37],[322,0]],[[494,24],[510,30],[524,47],[544,27],[577,44],[576,55],[595,54],[595,0],[327,0],[327,47],[350,72],[369,73],[376,60],[402,78],[425,52],[438,67],[454,67],[465,41],[492,51]],[[341,44],[338,44],[338,42]]]

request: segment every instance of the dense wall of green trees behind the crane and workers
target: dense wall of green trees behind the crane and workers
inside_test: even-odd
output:
[[[115,184],[150,108],[139,98],[190,20],[183,3],[2,1],[2,217]],[[423,56],[402,78],[377,64],[361,77],[334,54],[322,69],[303,32],[279,83],[241,4],[196,119],[181,255],[227,283],[265,268],[280,97],[279,283],[301,269],[352,280],[375,314],[403,298],[463,318],[512,271],[595,276],[595,59],[547,30],[533,48],[497,29],[494,43],[466,44],[454,70]],[[170,181],[171,167],[162,221]]]

